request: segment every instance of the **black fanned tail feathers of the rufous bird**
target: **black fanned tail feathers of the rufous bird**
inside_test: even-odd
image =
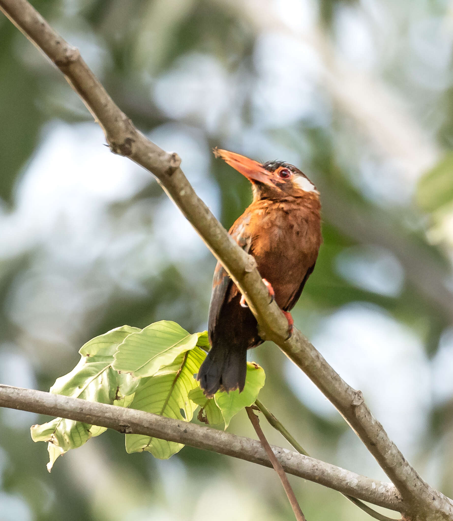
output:
[[[197,380],[206,396],[211,397],[219,389],[240,392],[245,386],[247,351],[234,351],[223,346],[212,348],[198,371]]]

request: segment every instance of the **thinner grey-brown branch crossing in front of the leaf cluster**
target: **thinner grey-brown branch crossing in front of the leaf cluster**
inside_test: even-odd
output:
[[[3,384],[0,384],[0,407],[83,421],[123,434],[141,434],[184,443],[272,468],[266,450],[258,440],[135,409]],[[392,483],[360,476],[281,447],[273,446],[272,451],[288,474],[392,510],[400,511],[404,506]]]

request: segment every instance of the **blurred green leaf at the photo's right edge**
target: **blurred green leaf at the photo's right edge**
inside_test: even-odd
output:
[[[453,152],[448,152],[420,179],[417,187],[417,202],[426,212],[434,212],[452,201]]]

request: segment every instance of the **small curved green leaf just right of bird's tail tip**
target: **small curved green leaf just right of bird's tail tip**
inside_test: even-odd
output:
[[[243,407],[249,407],[257,399],[258,393],[265,382],[264,369],[255,362],[247,362],[247,375],[245,377],[245,387],[240,393],[238,390],[218,391],[214,395],[216,405],[219,407],[225,429],[230,424],[231,418]]]

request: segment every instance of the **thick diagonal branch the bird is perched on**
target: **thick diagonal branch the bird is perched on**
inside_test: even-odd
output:
[[[79,51],[62,39],[26,0],[0,0],[0,9],[64,73],[104,129],[112,152],[127,156],[154,173],[245,295],[261,336],[278,344],[344,416],[405,499],[409,507],[406,513],[414,519],[421,512],[435,513],[438,519],[452,519],[453,502],[432,489],[405,460],[371,414],[362,393],[348,386],[300,331],[294,329],[286,340],[287,321],[275,302],[269,304],[255,259],[233,241],[196,195],[179,168],[179,156],[161,150],[132,125]]]

